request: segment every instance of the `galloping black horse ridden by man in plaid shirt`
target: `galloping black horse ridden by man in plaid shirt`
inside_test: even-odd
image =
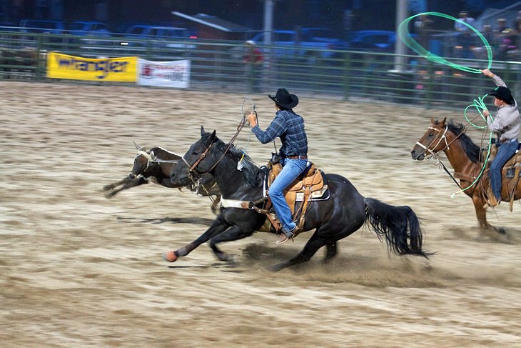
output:
[[[210,173],[221,189],[223,200],[258,202],[263,199],[265,174],[248,156],[244,156],[243,169],[239,171],[237,164],[242,156],[243,151],[218,139],[216,131],[206,133],[201,127],[201,139],[190,147],[184,160],[173,167],[172,182],[184,186],[193,175]],[[313,236],[299,254],[276,264],[272,268],[274,271],[307,262],[323,246],[326,247],[325,261],[329,261],[337,254],[337,241],[356,232],[365,222],[379,238],[385,237],[388,249],[396,254],[427,257],[422,250],[420,222],[410,207],[393,207],[376,199],[364,198],[348,179],[340,175],[328,174],[327,179],[330,198],[311,202],[305,214],[304,231],[315,229]],[[229,261],[231,258],[218,249],[217,244],[251,236],[265,219],[264,214],[252,209],[221,209],[221,214],[201,237],[175,252],[164,254],[163,258],[169,262],[176,261],[209,241],[218,259]]]

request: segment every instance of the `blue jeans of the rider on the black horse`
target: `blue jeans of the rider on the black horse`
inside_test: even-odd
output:
[[[273,203],[273,208],[275,208],[275,213],[282,224],[282,231],[288,236],[296,224],[291,218],[290,207],[285,202],[284,189],[302,174],[308,166],[308,161],[306,159],[283,159],[281,164],[283,165],[282,171],[273,180],[268,194]]]

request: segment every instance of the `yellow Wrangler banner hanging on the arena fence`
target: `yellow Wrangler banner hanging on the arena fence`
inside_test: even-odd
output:
[[[136,82],[136,56],[91,59],[50,52],[47,57],[47,77],[88,81]]]

